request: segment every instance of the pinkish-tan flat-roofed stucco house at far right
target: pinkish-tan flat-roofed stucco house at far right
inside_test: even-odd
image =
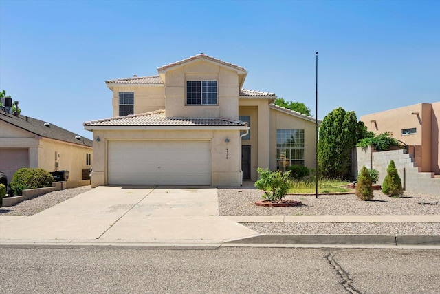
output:
[[[440,174],[440,102],[419,103],[361,116],[369,131],[391,132],[408,145],[419,171]]]

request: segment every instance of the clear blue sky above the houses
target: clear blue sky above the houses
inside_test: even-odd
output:
[[[21,114],[91,138],[113,115],[105,81],[203,52],[244,87],[318,118],[440,101],[440,1],[0,0],[0,90]]]

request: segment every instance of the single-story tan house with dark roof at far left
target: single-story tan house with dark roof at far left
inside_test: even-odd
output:
[[[93,144],[52,123],[0,110],[0,170],[12,180],[21,167],[69,171],[67,187],[90,185]]]

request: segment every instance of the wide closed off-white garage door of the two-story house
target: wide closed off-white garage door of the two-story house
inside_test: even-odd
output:
[[[109,141],[109,185],[210,185],[209,141]]]

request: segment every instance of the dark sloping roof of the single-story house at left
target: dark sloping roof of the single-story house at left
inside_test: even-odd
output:
[[[50,123],[50,127],[46,127],[45,123],[47,122],[30,116],[23,116],[21,114],[14,116],[13,114],[0,110],[0,120],[41,137],[74,143],[76,145],[93,146],[93,142],[88,138],[81,137],[81,140],[77,140],[75,136],[78,136],[78,134],[67,131],[67,129],[63,129],[52,123]]]

